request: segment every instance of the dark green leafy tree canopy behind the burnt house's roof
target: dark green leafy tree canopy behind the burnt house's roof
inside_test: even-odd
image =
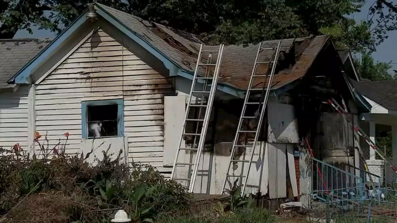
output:
[[[4,2],[4,0],[3,0]],[[5,1],[0,10],[0,31],[29,30],[31,24],[60,32],[87,9],[91,0]],[[249,44],[263,40],[331,35],[339,47],[354,52],[372,52],[376,44],[397,29],[391,6],[374,4],[368,21],[356,23],[347,17],[359,12],[364,0],[98,0],[143,19],[200,35],[209,44]],[[1,4],[1,0],[0,0]],[[32,7],[33,6],[33,7]],[[395,6],[395,5],[392,5]],[[45,9],[44,9],[45,8]],[[39,9],[49,10],[44,15]],[[13,34],[12,34],[13,33]],[[6,35],[6,33],[4,33]],[[0,37],[2,35],[0,34]]]

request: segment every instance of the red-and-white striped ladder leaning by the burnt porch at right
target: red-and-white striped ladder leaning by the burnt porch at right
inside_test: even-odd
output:
[[[335,99],[333,99],[333,98],[331,98],[330,100],[328,100],[328,101],[325,102],[325,103],[330,104],[330,105],[333,107],[333,109],[334,109],[336,112],[338,112],[338,113],[347,113],[347,108],[346,108],[346,105],[345,105],[345,103],[344,103],[343,100],[342,100],[343,107],[340,106],[340,105],[337,103],[337,101],[336,101]],[[392,161],[391,161],[389,158],[387,158],[387,157],[385,156],[385,154],[382,152],[382,150],[379,149],[379,148],[376,146],[376,144],[375,144],[374,142],[372,142],[372,140],[370,139],[370,137],[368,137],[368,136],[365,134],[365,132],[364,132],[356,123],[354,123],[354,121],[353,121],[353,123],[350,123],[350,124],[353,125],[354,131],[357,132],[357,134],[358,134],[359,136],[363,137],[364,140],[365,140],[365,142],[366,142],[369,146],[371,146],[371,148],[375,150],[375,152],[380,156],[380,158],[383,159],[383,160],[390,166],[391,170],[397,174],[397,167],[396,167],[395,165],[393,165]],[[360,149],[360,150],[361,150],[361,149]],[[360,151],[360,155],[362,155],[362,150]],[[365,164],[365,165],[366,165],[366,164]],[[368,171],[367,165],[366,165],[366,171]],[[369,172],[369,171],[368,171],[368,172]],[[372,177],[370,177],[370,179],[372,179]]]

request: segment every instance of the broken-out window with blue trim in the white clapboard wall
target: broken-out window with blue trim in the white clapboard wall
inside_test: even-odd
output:
[[[124,135],[123,99],[81,102],[83,138]]]

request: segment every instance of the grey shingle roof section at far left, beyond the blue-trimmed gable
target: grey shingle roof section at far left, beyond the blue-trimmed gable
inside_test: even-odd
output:
[[[50,42],[36,38],[0,39],[0,89],[13,87],[7,81]]]

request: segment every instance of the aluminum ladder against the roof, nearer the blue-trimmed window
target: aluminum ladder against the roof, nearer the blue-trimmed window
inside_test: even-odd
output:
[[[208,53],[208,59],[206,60],[206,62],[202,62],[202,54],[203,53]],[[200,161],[200,157],[201,157],[202,151],[204,149],[204,142],[205,142],[205,138],[207,135],[208,123],[210,121],[212,104],[214,102],[215,92],[216,92],[216,88],[218,85],[218,77],[219,77],[219,72],[220,72],[220,66],[222,63],[223,53],[224,53],[224,44],[221,44],[219,46],[218,50],[203,50],[203,44],[201,44],[200,50],[198,52],[195,73],[193,75],[192,85],[191,85],[190,94],[189,94],[189,101],[187,103],[186,112],[185,112],[185,121],[183,123],[183,129],[180,134],[181,137],[179,140],[179,147],[175,154],[175,160],[174,160],[174,163],[172,166],[172,172],[171,172],[171,179],[176,180],[176,181],[187,181],[189,183],[189,192],[190,193],[193,192],[193,189],[195,186],[197,173],[198,173],[198,163]],[[212,63],[212,54],[218,54],[216,63]],[[210,67],[214,67],[213,75],[210,75]],[[199,75],[200,68],[205,69],[204,77],[202,75]],[[202,89],[200,89],[200,90],[196,89],[197,82],[202,83]],[[207,87],[210,87],[209,91],[208,91]],[[200,95],[200,99],[199,99],[200,103],[197,103],[197,102],[192,103],[192,98],[195,97],[197,94]],[[205,100],[206,100],[206,102],[205,102]],[[189,118],[189,111],[191,110],[191,108],[199,109],[198,118],[195,118],[195,119]],[[202,112],[203,112],[202,110],[205,110],[204,118],[201,118]],[[196,129],[195,133],[186,133],[186,126],[187,126],[188,122],[197,123],[196,128],[195,128]],[[199,131],[200,123],[202,123],[202,126],[201,126],[201,130]],[[192,148],[184,148],[185,145],[182,145],[184,136],[194,137],[194,142],[193,142]],[[198,143],[197,143],[197,148],[195,148],[197,136],[199,137],[199,139],[198,139]],[[178,158],[181,156],[181,151],[183,151],[183,150],[190,150],[192,152],[197,151],[195,161],[193,162],[192,158],[191,158],[189,163],[178,162]],[[191,170],[192,166],[193,166],[193,172]],[[188,177],[187,178],[178,178],[176,176],[177,167],[185,167],[185,168],[188,167],[188,173],[187,173]]]

